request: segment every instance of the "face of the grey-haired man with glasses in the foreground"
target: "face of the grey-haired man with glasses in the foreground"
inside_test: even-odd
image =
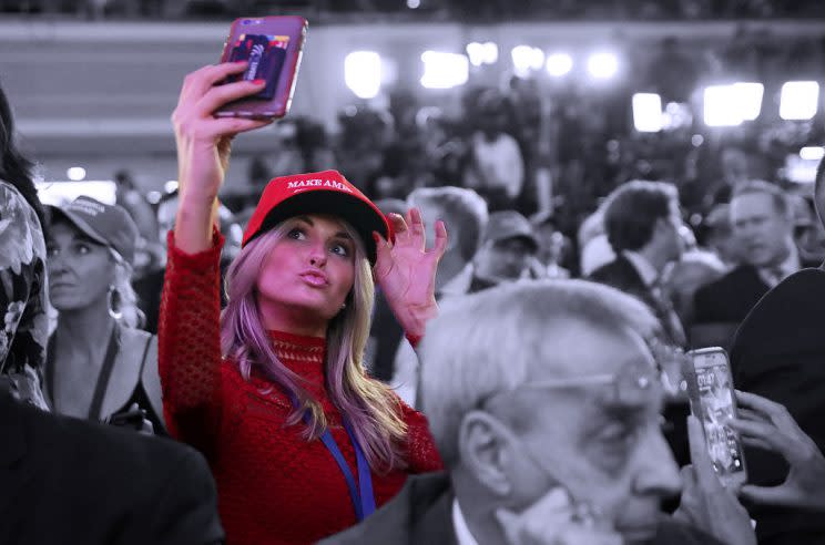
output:
[[[553,329],[543,352],[548,364],[534,367],[524,385],[482,405],[507,429],[509,508],[522,511],[562,486],[625,543],[643,543],[655,533],[661,500],[681,487],[659,424],[651,352],[636,333],[579,320]]]

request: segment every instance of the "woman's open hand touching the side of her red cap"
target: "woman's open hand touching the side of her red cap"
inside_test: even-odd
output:
[[[447,249],[447,227],[436,222],[436,243],[426,248],[425,225],[418,208],[410,208],[406,219],[390,214],[395,244],[378,233],[375,280],[387,298],[398,322],[408,336],[421,337],[427,320],[438,312],[436,305],[436,271]]]

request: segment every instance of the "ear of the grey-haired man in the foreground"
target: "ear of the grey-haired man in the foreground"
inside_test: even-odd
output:
[[[461,465],[473,477],[499,496],[512,491],[510,475],[511,445],[503,424],[482,411],[470,411],[458,430],[458,452]]]

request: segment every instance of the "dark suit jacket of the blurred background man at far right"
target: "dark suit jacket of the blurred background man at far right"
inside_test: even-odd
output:
[[[740,265],[719,280],[696,290],[693,296],[693,320],[695,323],[740,323],[768,289],[771,287],[760,277],[755,267]]]

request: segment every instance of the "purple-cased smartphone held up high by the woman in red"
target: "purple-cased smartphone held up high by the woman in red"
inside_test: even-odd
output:
[[[243,74],[226,79],[265,80],[257,94],[222,106],[218,117],[281,119],[289,111],[308,22],[303,17],[242,17],[235,19],[221,62],[248,61]]]

